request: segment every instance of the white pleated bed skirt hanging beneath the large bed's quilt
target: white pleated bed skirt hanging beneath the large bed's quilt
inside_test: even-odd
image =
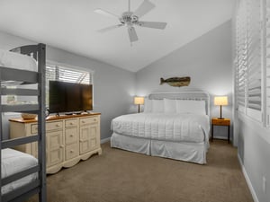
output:
[[[140,154],[204,164],[206,163],[206,153],[209,145],[208,142],[166,142],[133,136],[122,136],[117,133],[112,133],[111,147]]]

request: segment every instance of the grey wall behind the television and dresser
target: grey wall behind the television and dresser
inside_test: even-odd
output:
[[[2,49],[8,50],[36,43],[0,31],[0,48]],[[80,66],[94,70],[93,111],[102,113],[101,138],[111,136],[111,120],[114,117],[127,113],[132,106],[133,95],[135,93],[135,74],[91,58],[81,57],[49,46],[47,46],[47,59],[70,66]],[[6,121],[4,132],[6,134],[8,134],[7,119],[10,118],[10,116],[4,116],[4,120]]]

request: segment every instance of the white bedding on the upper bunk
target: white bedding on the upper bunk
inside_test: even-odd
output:
[[[0,66],[37,71],[37,62],[26,55],[0,49]]]

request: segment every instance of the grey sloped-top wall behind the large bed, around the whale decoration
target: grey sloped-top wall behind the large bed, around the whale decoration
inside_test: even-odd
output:
[[[136,74],[137,95],[146,96],[149,92],[195,88],[211,94],[211,105],[213,105],[212,96],[229,95],[229,106],[223,107],[222,116],[232,119],[231,56],[231,22],[229,21],[139,70]],[[159,85],[161,77],[185,75],[191,77],[189,87],[172,87],[166,83]],[[219,117],[220,108],[211,106],[211,115]],[[226,127],[215,127],[214,129],[214,136],[227,138]]]

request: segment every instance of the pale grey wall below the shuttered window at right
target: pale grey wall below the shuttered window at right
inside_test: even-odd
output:
[[[238,157],[250,181],[250,189],[259,202],[270,201],[270,131],[253,119],[239,115]],[[263,191],[266,178],[266,193]]]

